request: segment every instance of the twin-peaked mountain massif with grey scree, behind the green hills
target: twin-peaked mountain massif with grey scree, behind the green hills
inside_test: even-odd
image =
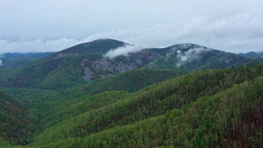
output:
[[[115,53],[116,57],[105,57],[110,50],[120,47],[124,49]],[[79,44],[0,74],[0,86],[68,88],[138,68],[189,72],[256,61],[196,44],[141,48],[136,52],[132,52],[131,47],[131,44],[114,39],[98,39]]]

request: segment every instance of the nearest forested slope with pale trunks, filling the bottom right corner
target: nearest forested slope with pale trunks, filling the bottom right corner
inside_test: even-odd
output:
[[[259,77],[164,115],[44,148],[262,148],[262,92],[263,78]]]

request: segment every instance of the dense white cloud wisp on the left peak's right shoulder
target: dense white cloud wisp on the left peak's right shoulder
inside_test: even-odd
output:
[[[115,49],[111,49],[109,52],[107,52],[104,57],[113,59],[117,56],[128,56],[130,53],[137,53],[140,52],[143,48],[138,46],[132,46],[132,45],[125,45],[122,47],[118,47]]]

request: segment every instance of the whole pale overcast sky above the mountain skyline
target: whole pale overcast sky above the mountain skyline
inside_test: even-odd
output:
[[[98,38],[262,51],[263,0],[0,0],[0,53],[60,51]]]

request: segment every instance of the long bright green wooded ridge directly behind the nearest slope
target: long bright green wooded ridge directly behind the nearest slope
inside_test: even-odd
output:
[[[35,144],[47,144],[70,137],[84,137],[103,129],[132,124],[179,109],[202,96],[209,96],[263,72],[263,64],[220,70],[197,71],[166,80],[134,92],[108,106],[80,114],[67,122],[48,128],[35,138]]]

